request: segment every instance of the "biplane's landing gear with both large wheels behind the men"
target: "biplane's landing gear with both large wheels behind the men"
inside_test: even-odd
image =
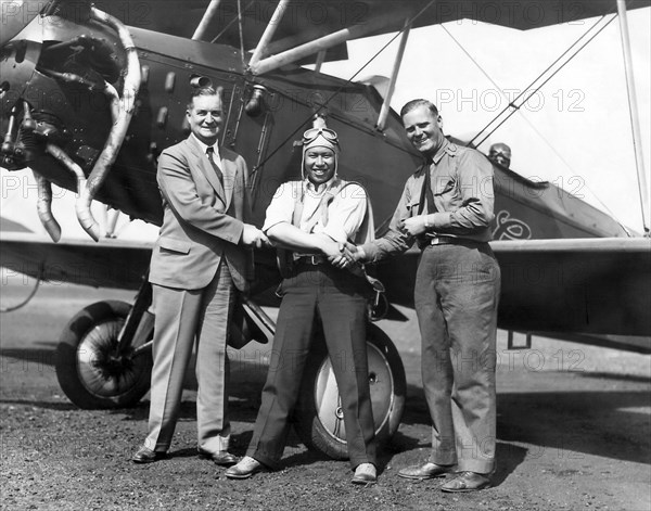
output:
[[[56,350],[56,376],[79,408],[135,405],[150,388],[153,316],[144,286],[133,307],[98,302],[81,309],[64,329]],[[272,324],[268,327],[272,329]],[[371,405],[379,445],[397,431],[407,382],[398,350],[376,325],[367,327]],[[334,459],[348,458],[346,429],[332,363],[316,350],[305,369],[295,429],[303,443]]]

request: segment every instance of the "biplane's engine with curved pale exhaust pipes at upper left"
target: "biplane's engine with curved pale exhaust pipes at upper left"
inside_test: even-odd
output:
[[[50,2],[1,55],[0,164],[35,173],[39,216],[55,241],[50,183],[79,194],[79,222],[98,240],[90,202],[125,140],[140,85],[128,31],[90,3]]]

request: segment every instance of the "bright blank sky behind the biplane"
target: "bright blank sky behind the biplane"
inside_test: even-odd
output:
[[[507,105],[498,88],[508,90],[511,98],[526,90],[596,21],[527,31],[472,21],[414,29],[406,48],[392,106],[399,111],[413,98],[430,99],[441,108],[445,132],[470,140]],[[651,186],[651,9],[628,12],[628,23],[644,167]],[[349,59],[324,64],[322,72],[348,79],[392,37],[350,41]],[[398,41],[396,38],[357,79],[390,76]],[[617,20],[480,149],[487,152],[490,143],[497,141],[511,146],[512,169],[532,179],[551,181],[642,232]],[[31,174],[4,169],[1,173],[0,214],[44,233],[34,205],[36,184]],[[74,193],[54,190],[54,197],[53,213],[64,226],[64,237],[86,237],[74,216]],[[101,221],[101,207],[97,205],[93,210]],[[129,225],[122,218],[117,231],[120,238],[152,239],[157,228],[140,221]]]

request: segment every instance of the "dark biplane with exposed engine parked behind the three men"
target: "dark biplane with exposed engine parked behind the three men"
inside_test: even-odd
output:
[[[34,173],[39,218],[51,240],[3,232],[2,266],[38,279],[137,291],[133,304],[92,304],[66,325],[56,359],[65,394],[82,408],[124,407],[149,388],[151,245],[101,238],[90,204],[100,201],[161,223],[156,159],[188,136],[184,110],[192,87],[224,89],[221,143],[248,163],[256,225],[278,184],[299,174],[294,141],[320,114],[356,148],[342,158],[340,173],[368,190],[381,237],[420,156],[390,107],[400,52],[383,97],[372,85],[320,72],[323,62],[345,59],[346,41],[395,31],[403,46],[412,27],[467,17],[533,29],[617,8],[625,16],[624,8],[649,5],[649,0],[3,0],[1,166]],[[649,238],[630,237],[552,183],[499,164],[494,168],[500,328],[651,353]],[[77,193],[76,215],[88,241],[61,238],[51,183]],[[410,251],[378,265],[386,293],[374,304],[375,315],[398,317],[395,305],[413,306],[417,260],[418,252]],[[257,254],[256,276],[245,312],[248,330],[265,341],[275,325],[260,304],[273,304],[270,290],[280,279],[272,251]],[[405,372],[391,338],[375,324],[368,332],[373,414],[379,438],[386,439],[405,406]],[[345,457],[327,355],[316,353],[304,378],[296,419],[302,439]]]

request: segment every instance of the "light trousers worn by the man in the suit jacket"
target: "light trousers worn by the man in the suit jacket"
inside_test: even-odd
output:
[[[234,285],[226,261],[201,290],[153,285],[154,367],[152,369],[149,435],[144,445],[169,449],[179,416],[186,369],[196,340],[197,447],[207,452],[228,450],[229,363],[226,354]]]

